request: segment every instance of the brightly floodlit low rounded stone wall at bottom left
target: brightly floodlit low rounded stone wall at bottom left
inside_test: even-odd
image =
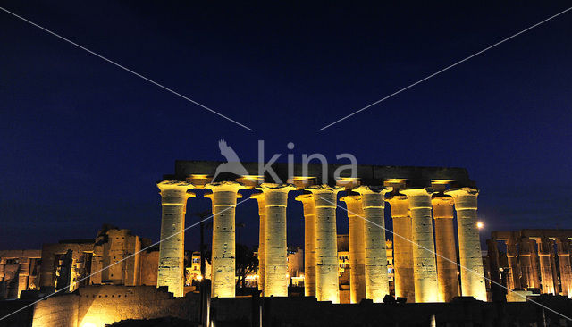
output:
[[[103,327],[126,319],[198,319],[198,297],[173,298],[152,286],[96,285],[40,301],[33,327]]]

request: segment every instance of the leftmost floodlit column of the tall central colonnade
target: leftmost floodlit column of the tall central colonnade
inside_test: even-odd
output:
[[[161,190],[161,243],[157,287],[167,286],[175,297],[183,296],[185,278],[185,212],[193,185],[185,181],[164,180],[157,184]]]

